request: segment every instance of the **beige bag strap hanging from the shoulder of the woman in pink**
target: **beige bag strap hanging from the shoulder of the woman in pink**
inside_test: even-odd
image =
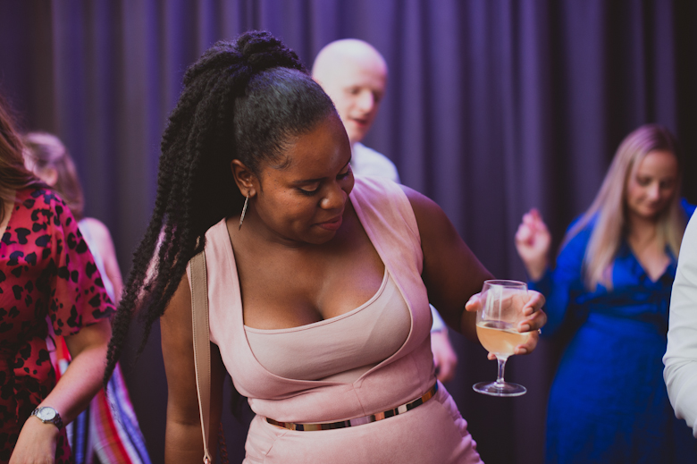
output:
[[[208,282],[204,251],[191,258],[191,317],[194,330],[194,364],[198,412],[204,439],[204,462],[211,462],[208,452],[208,430],[211,412],[211,345],[208,333]]]

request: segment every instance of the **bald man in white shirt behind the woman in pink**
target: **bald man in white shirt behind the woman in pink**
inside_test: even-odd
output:
[[[357,38],[336,40],[320,50],[312,67],[313,78],[332,98],[351,144],[351,168],[359,175],[387,177],[399,182],[399,173],[387,156],[361,143],[370,130],[387,89],[387,63],[374,46]],[[455,375],[458,357],[448,329],[431,307],[431,349],[441,382]]]

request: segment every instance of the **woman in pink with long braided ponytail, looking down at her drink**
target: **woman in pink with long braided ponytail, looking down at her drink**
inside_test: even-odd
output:
[[[135,310],[146,336],[160,318],[168,463],[203,454],[187,274],[201,250],[210,422],[227,370],[256,412],[245,462],[480,462],[435,379],[428,303],[476,340],[478,299],[465,305],[491,274],[440,207],[354,179],[350,156],[331,99],[268,33],[218,42],[187,71],[107,367]],[[533,293],[518,330],[544,324],[542,302]]]

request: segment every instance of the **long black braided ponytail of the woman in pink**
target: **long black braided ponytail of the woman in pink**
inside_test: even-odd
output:
[[[239,214],[231,161],[257,175],[283,165],[287,144],[335,111],[298,55],[268,32],[217,42],[189,67],[162,139],[155,209],[113,320],[105,381],[134,313],[145,325],[140,353],[206,231]]]

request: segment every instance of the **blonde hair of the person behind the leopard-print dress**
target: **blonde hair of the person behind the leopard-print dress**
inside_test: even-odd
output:
[[[25,156],[37,166],[39,176],[46,169],[55,169],[57,180],[54,190],[71,209],[75,219],[82,219],[85,198],[80,179],[68,149],[55,135],[46,132],[29,132],[23,137]]]

